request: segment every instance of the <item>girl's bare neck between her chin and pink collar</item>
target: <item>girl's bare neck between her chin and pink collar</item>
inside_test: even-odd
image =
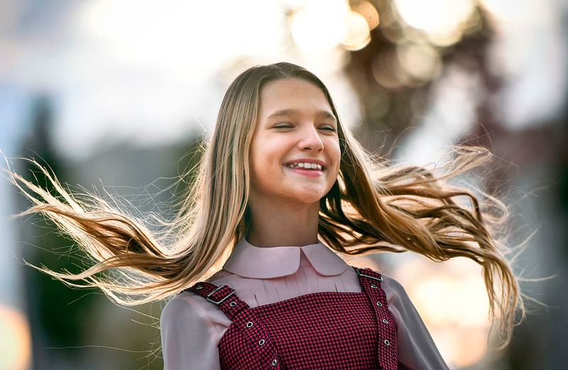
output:
[[[305,246],[317,243],[320,203],[249,202],[251,226],[247,241],[254,246]]]

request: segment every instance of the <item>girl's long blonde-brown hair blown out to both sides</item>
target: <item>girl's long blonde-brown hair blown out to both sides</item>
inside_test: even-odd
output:
[[[21,212],[44,214],[92,259],[79,273],[33,266],[74,287],[97,287],[121,305],[148,303],[178,293],[211,276],[249,229],[249,156],[260,104],[268,82],[301,79],[322,89],[338,122],[342,152],[339,176],[320,200],[318,233],[346,255],[413,251],[434,261],[467,257],[482,268],[491,317],[499,317],[503,345],[510,341],[516,308],[524,315],[518,281],[496,237],[506,206],[449,179],[485,165],[485,148],[458,146],[442,173],[388,165],[364,151],[340,124],[327,87],[311,72],[287,62],[251,67],[227,89],[197,178],[175,218],[153,230],[148,222],[94,194],[72,194],[55,175],[30,160],[53,185],[52,192],[6,170],[31,201]],[[461,205],[458,198],[470,205]]]

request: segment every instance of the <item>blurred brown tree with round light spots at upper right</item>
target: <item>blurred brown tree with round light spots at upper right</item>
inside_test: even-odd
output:
[[[359,0],[351,7],[358,9]],[[489,68],[488,46],[493,31],[484,10],[476,6],[446,39],[405,23],[393,1],[372,1],[380,23],[364,48],[350,52],[344,70],[361,102],[362,124],[357,136],[370,151],[386,156],[395,140],[423,116],[432,102],[432,83],[450,66],[480,76],[478,113],[495,119],[489,103],[501,80]]]

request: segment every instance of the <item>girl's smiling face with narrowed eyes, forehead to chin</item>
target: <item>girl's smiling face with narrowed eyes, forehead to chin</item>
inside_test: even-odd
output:
[[[261,91],[251,143],[251,201],[319,202],[339,173],[337,121],[324,92],[305,80]]]

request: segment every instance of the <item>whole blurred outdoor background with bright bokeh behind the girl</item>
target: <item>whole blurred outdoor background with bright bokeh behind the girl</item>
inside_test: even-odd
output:
[[[490,148],[469,180],[506,197],[511,245],[535,232],[515,271],[545,305],[528,300],[496,351],[474,263],[357,263],[403,283],[452,369],[566,369],[567,17],[562,0],[1,0],[0,149],[168,215],[178,192],[163,190],[199,160],[231,80],[303,65],[373,153],[425,165],[452,143]],[[0,180],[0,370],[162,369],[163,303],[119,308],[23,266],[82,263],[40,217],[9,219],[26,207]]]

